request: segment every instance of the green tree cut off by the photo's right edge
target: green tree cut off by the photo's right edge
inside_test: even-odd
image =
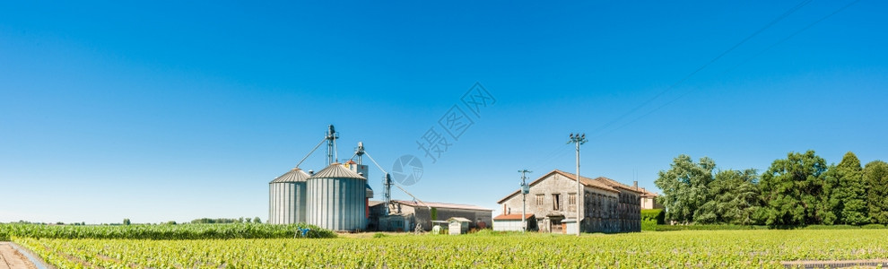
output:
[[[864,179],[869,186],[866,204],[870,220],[888,224],[888,163],[870,161],[864,168]]]

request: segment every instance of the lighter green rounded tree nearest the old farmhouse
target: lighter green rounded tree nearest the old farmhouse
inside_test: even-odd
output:
[[[712,169],[715,161],[703,157],[694,163],[690,156],[675,157],[669,170],[659,171],[654,184],[663,190],[658,202],[666,207],[666,219],[688,223],[694,220],[694,213],[709,200],[709,186],[712,182]]]

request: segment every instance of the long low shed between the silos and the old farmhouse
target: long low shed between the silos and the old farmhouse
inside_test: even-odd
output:
[[[432,221],[448,220],[449,218],[460,217],[469,220],[468,229],[484,229],[490,227],[492,222],[492,209],[487,209],[475,205],[468,204],[446,204],[431,202],[414,202],[392,200],[388,204],[388,212],[386,215],[386,204],[376,201],[370,201],[370,225],[371,229],[382,231],[414,231],[417,224],[421,230],[429,231],[432,228]],[[437,215],[435,220],[431,219],[431,213]]]

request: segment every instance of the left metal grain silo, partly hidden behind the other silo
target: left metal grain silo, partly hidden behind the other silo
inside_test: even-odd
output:
[[[305,222],[306,174],[294,168],[268,183],[268,223]]]

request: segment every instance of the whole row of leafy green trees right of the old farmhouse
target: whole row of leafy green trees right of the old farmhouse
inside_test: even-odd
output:
[[[848,152],[827,165],[814,151],[789,152],[758,174],[721,170],[679,155],[654,181],[666,220],[678,223],[797,226],[888,224],[888,163],[861,166]]]

